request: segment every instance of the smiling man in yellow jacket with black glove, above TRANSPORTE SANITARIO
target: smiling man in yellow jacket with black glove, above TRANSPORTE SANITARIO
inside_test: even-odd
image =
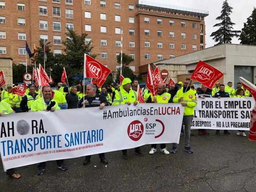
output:
[[[58,103],[51,98],[52,90],[50,86],[44,86],[42,88],[42,97],[35,100],[31,105],[31,111],[45,111],[54,112],[55,110],[60,110]],[[64,160],[56,160],[58,168],[61,170],[67,170],[68,167],[64,164]],[[41,162],[38,164],[38,175],[42,175],[46,166],[46,162]]]

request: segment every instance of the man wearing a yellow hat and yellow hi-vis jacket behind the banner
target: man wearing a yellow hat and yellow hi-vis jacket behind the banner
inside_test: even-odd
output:
[[[130,78],[124,78],[122,81],[122,85],[120,86],[120,91],[115,94],[115,98],[113,100],[113,105],[131,105],[133,103],[134,106],[138,104],[137,92],[131,89],[131,80]],[[127,149],[122,150],[123,158],[128,159]],[[135,148],[135,154],[143,156],[144,154],[141,152],[140,147]]]

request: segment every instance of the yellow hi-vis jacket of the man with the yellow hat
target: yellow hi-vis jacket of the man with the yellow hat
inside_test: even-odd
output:
[[[130,89],[129,92],[124,90],[124,88],[121,86],[120,91],[116,92],[115,98],[113,101],[113,105],[124,105],[125,102],[131,102],[137,101],[137,92]]]

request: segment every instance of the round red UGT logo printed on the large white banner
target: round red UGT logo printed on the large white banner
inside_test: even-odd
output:
[[[131,122],[127,129],[128,136],[133,141],[140,140],[140,138],[142,137],[143,131],[144,131],[143,124],[138,120]]]

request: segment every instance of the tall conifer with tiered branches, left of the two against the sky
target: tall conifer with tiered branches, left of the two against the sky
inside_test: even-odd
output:
[[[215,45],[223,43],[231,43],[233,37],[239,37],[241,31],[233,30],[233,25],[235,23],[231,22],[230,14],[232,13],[232,7],[228,5],[228,0],[225,0],[222,4],[221,15],[216,18],[222,22],[215,24],[213,27],[220,27],[217,31],[212,32],[210,35],[215,42],[218,42]]]

